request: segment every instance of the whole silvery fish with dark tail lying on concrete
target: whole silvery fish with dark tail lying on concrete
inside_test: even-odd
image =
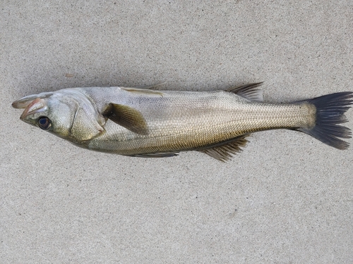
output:
[[[229,161],[263,130],[304,132],[347,149],[351,132],[341,124],[353,92],[292,103],[263,101],[262,82],[211,92],[152,87],[78,87],[25,96],[20,120],[76,146],[124,156],[161,158],[199,151]]]

